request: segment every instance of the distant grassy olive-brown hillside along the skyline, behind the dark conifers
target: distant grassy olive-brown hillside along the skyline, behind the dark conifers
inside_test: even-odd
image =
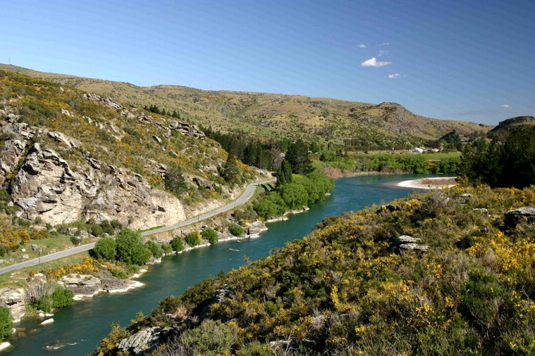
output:
[[[471,122],[436,120],[411,113],[395,103],[369,104],[263,92],[208,91],[183,86],[139,87],[130,83],[88,79],[0,65],[62,85],[69,85],[119,102],[155,104],[178,111],[183,118],[222,131],[253,136],[308,138],[370,148],[410,148],[421,140],[451,131],[470,136],[490,127]]]

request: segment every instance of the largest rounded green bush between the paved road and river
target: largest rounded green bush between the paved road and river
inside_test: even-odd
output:
[[[143,243],[139,232],[131,229],[122,229],[116,236],[116,251],[118,261],[125,264],[141,266],[150,258],[150,251]]]

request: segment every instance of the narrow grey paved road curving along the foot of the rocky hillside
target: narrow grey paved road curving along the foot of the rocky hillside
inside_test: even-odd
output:
[[[220,207],[218,209],[215,209],[215,210],[212,210],[212,211],[208,211],[208,213],[203,213],[203,214],[201,214],[199,216],[196,216],[196,217],[191,218],[189,220],[185,220],[185,221],[180,222],[180,223],[176,223],[174,225],[169,225],[169,226],[166,226],[166,227],[160,227],[160,229],[154,229],[154,230],[150,230],[150,231],[146,231],[146,232],[141,232],[141,235],[148,236],[148,235],[158,234],[160,232],[166,232],[166,231],[169,231],[169,230],[173,230],[173,229],[176,229],[178,227],[184,227],[186,225],[190,225],[190,224],[193,224],[193,223],[197,223],[197,222],[199,222],[201,220],[205,220],[205,219],[211,218],[212,216],[216,216],[217,214],[223,213],[224,211],[228,211],[228,210],[234,209],[235,207],[238,207],[239,205],[245,204],[249,199],[251,199],[251,197],[253,196],[254,191],[256,190],[257,186],[261,186],[262,184],[270,183],[272,181],[275,181],[275,179],[268,179],[268,180],[265,180],[265,181],[259,181],[258,183],[249,184],[249,186],[247,186],[247,188],[245,188],[245,191],[242,193],[242,195],[240,195],[240,197],[238,197],[238,199],[234,200],[233,202],[230,202],[230,203],[226,204],[224,207]],[[60,251],[60,252],[54,252],[54,253],[51,253],[51,254],[47,254],[47,255],[41,256],[40,258],[37,258],[37,259],[29,259],[28,261],[21,262],[20,264],[13,264],[11,266],[0,268],[0,275],[2,273],[8,273],[8,272],[11,272],[13,270],[19,270],[21,268],[37,266],[38,264],[42,264],[42,263],[49,262],[49,261],[54,261],[54,259],[61,259],[63,257],[68,257],[71,254],[77,254],[79,252],[88,251],[88,250],[91,250],[94,247],[95,247],[95,243],[88,243],[86,245],[80,245],[80,246],[77,246],[77,247],[69,248],[68,250],[63,250],[63,251]]]

